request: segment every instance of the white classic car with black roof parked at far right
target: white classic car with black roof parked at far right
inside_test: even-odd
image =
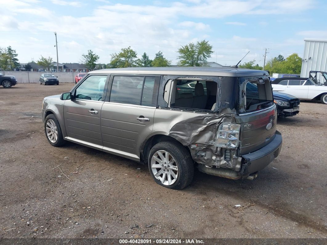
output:
[[[327,104],[327,86],[318,86],[308,78],[282,78],[271,82],[272,90],[293,95],[301,100],[320,100]]]

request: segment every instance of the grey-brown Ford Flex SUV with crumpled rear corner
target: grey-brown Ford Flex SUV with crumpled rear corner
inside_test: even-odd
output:
[[[189,185],[194,167],[254,179],[282,147],[269,75],[259,70],[96,70],[45,97],[42,120],[51,145],[67,140],[147,164],[172,189]]]

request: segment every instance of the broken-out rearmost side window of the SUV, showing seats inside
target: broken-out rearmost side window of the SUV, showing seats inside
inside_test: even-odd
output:
[[[212,80],[176,79],[171,100],[171,107],[209,110],[215,108],[217,100],[217,83]]]

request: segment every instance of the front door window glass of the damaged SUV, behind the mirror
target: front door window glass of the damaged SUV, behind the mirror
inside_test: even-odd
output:
[[[77,87],[75,98],[101,101],[106,79],[107,76],[88,77]]]

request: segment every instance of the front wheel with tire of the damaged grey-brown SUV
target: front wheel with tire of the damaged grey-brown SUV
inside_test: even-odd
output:
[[[44,120],[45,136],[49,143],[55,147],[64,145],[64,139],[60,128],[59,121],[54,114],[49,114]]]

